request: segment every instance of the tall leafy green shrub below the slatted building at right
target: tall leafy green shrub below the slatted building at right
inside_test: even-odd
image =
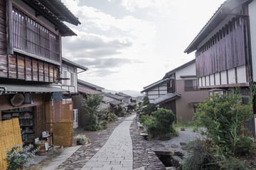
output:
[[[235,155],[238,141],[245,131],[245,123],[252,116],[252,104],[242,104],[238,90],[233,94],[214,94],[211,100],[198,105],[194,120],[206,127],[206,135],[213,141],[216,154],[225,157]]]

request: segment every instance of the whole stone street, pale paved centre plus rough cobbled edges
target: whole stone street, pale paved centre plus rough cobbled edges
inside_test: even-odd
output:
[[[70,147],[68,149],[76,149],[68,153],[71,155],[65,154],[66,149],[56,159],[44,160],[29,169],[165,169],[156,154],[151,152],[151,147],[146,148],[146,140],[139,135],[135,116],[119,118],[100,132],[75,130],[75,135],[86,135],[92,144]],[[154,142],[154,145],[162,147],[159,142]],[[68,156],[61,162],[65,157],[63,154]]]

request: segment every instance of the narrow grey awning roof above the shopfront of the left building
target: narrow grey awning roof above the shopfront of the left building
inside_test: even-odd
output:
[[[68,91],[50,85],[0,84],[0,94],[13,93],[56,93]]]

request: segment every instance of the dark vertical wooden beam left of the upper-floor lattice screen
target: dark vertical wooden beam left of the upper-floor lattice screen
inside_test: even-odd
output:
[[[14,54],[13,36],[12,33],[12,2],[11,0],[6,1],[6,26],[7,26],[7,55]]]

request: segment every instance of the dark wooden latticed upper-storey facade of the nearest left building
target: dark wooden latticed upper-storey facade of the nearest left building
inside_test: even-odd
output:
[[[38,19],[12,8],[12,35],[6,32],[6,1],[0,1],[0,78],[53,83],[60,67],[58,33],[43,26]],[[13,54],[8,54],[7,37],[12,37]]]

